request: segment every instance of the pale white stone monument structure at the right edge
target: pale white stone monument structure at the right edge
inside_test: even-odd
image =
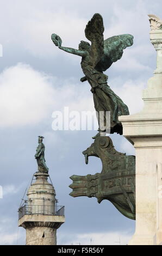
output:
[[[129,245],[162,243],[162,21],[148,16],[157,69],[143,92],[144,109],[119,118],[136,152],[136,228]]]

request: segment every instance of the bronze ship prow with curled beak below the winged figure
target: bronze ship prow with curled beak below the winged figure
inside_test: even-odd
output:
[[[85,162],[89,156],[99,157],[102,172],[95,175],[72,175],[72,197],[96,197],[98,203],[107,199],[124,216],[135,220],[135,156],[127,156],[114,149],[110,137],[97,136],[83,151]]]

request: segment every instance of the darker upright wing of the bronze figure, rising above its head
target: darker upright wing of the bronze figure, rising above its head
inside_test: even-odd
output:
[[[102,16],[96,13],[85,28],[85,36],[91,41],[91,57],[94,66],[99,62],[104,53],[103,32]]]

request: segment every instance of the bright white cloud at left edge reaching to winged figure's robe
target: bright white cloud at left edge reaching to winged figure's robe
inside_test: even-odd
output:
[[[89,85],[60,81],[22,63],[0,74],[0,95],[0,127],[35,125],[64,106],[77,111],[93,108]]]

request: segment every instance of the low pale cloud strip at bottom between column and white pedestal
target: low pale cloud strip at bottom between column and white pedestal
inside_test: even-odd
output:
[[[126,232],[88,233],[74,234],[66,237],[61,233],[58,236],[58,244],[64,245],[127,245],[132,234]],[[68,241],[67,241],[68,240]]]

